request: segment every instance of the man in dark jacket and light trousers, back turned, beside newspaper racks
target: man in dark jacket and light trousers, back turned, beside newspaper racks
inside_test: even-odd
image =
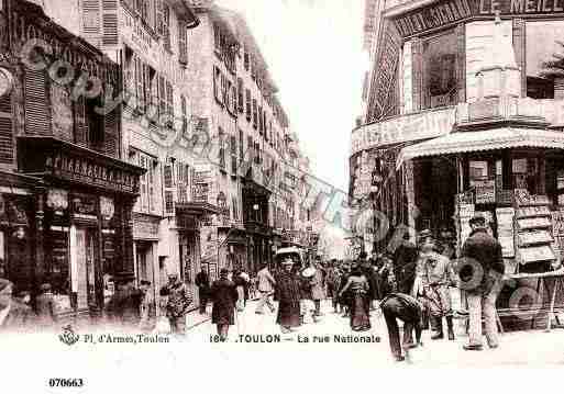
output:
[[[462,249],[458,267],[461,289],[466,291],[469,312],[468,345],[465,350],[482,350],[482,316],[490,348],[499,346],[496,323],[496,300],[502,288],[504,255],[499,241],[490,236],[486,219],[476,215],[469,221],[472,233]]]

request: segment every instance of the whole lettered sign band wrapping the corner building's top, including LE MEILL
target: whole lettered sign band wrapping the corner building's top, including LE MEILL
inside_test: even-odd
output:
[[[402,36],[422,33],[472,16],[495,15],[564,15],[564,0],[450,0],[420,8],[395,19]]]

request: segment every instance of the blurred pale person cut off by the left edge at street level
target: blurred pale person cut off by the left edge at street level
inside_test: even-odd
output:
[[[12,297],[13,284],[0,279],[0,333],[25,331],[34,326],[31,307]]]

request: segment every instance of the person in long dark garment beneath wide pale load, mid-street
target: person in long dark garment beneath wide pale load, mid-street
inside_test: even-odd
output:
[[[283,271],[276,278],[275,299],[278,300],[276,323],[284,334],[300,325],[300,279],[292,272],[294,260],[281,261]]]

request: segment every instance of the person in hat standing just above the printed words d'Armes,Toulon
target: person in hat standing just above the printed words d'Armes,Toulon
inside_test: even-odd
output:
[[[167,296],[166,317],[170,323],[173,334],[184,335],[186,331],[186,314],[188,306],[193,302],[192,294],[179,279],[178,273],[168,274],[168,284],[161,291]]]

